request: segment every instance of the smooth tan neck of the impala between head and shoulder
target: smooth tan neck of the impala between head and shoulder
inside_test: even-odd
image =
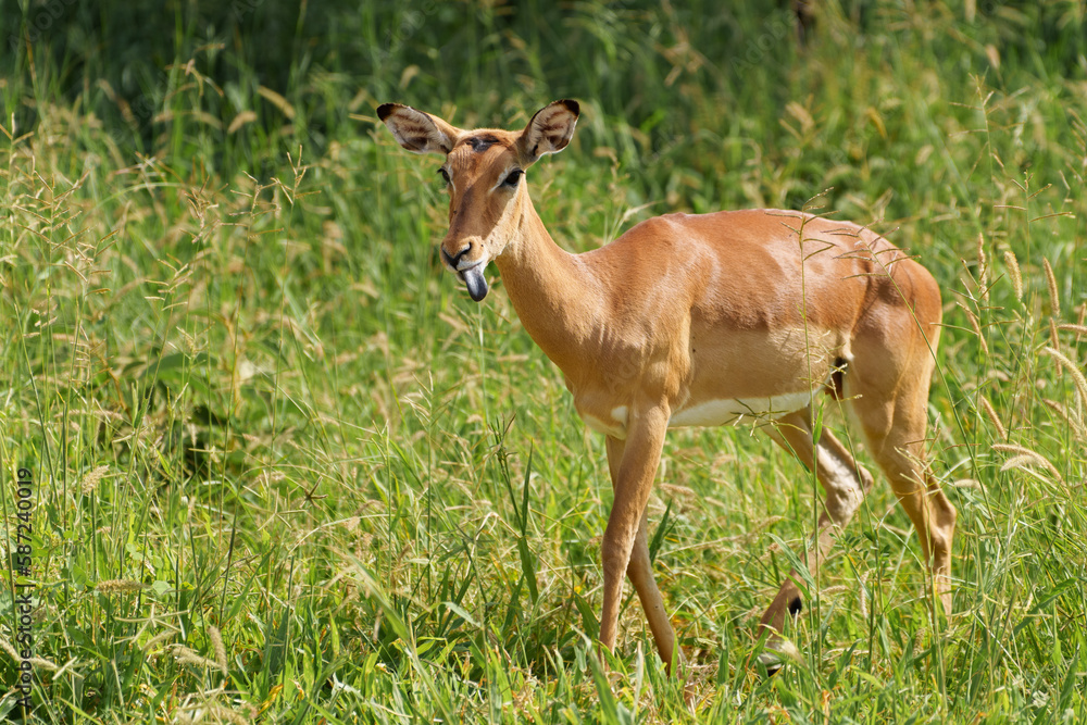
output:
[[[528,190],[520,222],[495,259],[507,293],[533,340],[563,373],[584,362],[603,303],[598,280],[585,262],[559,248],[544,227]]]

